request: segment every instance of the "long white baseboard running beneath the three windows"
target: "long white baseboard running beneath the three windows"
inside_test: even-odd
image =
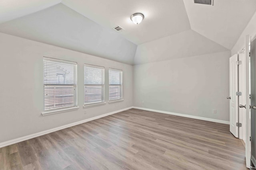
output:
[[[8,146],[8,145],[12,145],[12,144],[14,144],[14,143],[26,141],[26,140],[32,139],[32,138],[34,138],[34,137],[38,137],[38,136],[46,135],[46,134],[48,134],[48,133],[52,133],[52,132],[55,132],[55,131],[59,131],[59,130],[61,130],[61,129],[65,129],[65,128],[72,127],[72,126],[75,126],[75,125],[79,125],[79,124],[81,124],[81,123],[85,123],[85,122],[88,122],[88,121],[92,121],[92,120],[95,120],[95,119],[99,119],[99,118],[101,118],[101,117],[105,117],[105,116],[108,116],[108,115],[112,115],[112,114],[115,114],[115,113],[119,113],[119,112],[121,112],[121,111],[125,111],[125,110],[132,109],[132,108],[133,108],[133,107],[127,107],[127,108],[125,108],[125,109],[121,109],[121,110],[117,110],[117,111],[112,111],[112,112],[110,112],[110,113],[106,113],[106,114],[99,115],[99,116],[96,116],[96,117],[92,117],[92,118],[89,118],[89,119],[77,121],[77,122],[74,122],[74,123],[70,123],[70,124],[68,124],[68,125],[56,127],[56,128],[49,129],[49,130],[46,130],[46,131],[34,133],[34,134],[32,134],[32,135],[28,135],[28,136],[25,136],[25,137],[20,137],[20,138],[17,138],[17,139],[13,139],[13,140],[10,140],[10,141],[6,141],[6,142],[3,142],[3,143],[0,143],[0,148],[6,147],[6,146]]]

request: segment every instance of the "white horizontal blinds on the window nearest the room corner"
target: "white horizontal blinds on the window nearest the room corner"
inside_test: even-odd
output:
[[[122,99],[122,70],[109,68],[109,101]]]

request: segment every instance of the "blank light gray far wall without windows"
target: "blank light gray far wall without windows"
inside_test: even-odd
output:
[[[135,65],[134,106],[229,121],[230,55],[226,51]]]

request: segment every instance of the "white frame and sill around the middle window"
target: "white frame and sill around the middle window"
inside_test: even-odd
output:
[[[105,105],[106,104],[106,102],[105,102],[105,67],[104,66],[96,66],[96,65],[92,65],[92,64],[84,64],[84,68],[85,68],[85,66],[103,69],[104,84],[103,85],[102,84],[98,85],[98,86],[103,86],[103,101],[102,102],[92,102],[92,103],[87,103],[87,104],[84,103],[83,107],[88,108],[88,107],[95,107],[95,106]],[[84,78],[85,78],[85,74],[84,74]],[[94,84],[90,84],[90,85],[94,85]],[[84,84],[84,86],[85,86],[85,84]],[[97,85],[94,85],[94,86],[97,86]],[[85,94],[85,92],[84,92],[84,94]]]

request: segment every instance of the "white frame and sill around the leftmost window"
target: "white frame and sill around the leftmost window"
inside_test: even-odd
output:
[[[53,108],[53,109],[48,109],[48,110],[44,110],[44,60],[48,60],[48,61],[56,61],[56,62],[62,62],[62,63],[72,63],[72,64],[75,64],[75,67],[76,67],[76,103],[74,106],[67,106],[67,107],[62,107],[62,108]],[[74,61],[67,61],[67,60],[63,60],[63,59],[54,59],[54,58],[51,58],[51,57],[43,57],[43,71],[42,71],[42,74],[43,74],[43,93],[42,93],[42,96],[43,96],[43,111],[42,111],[42,115],[45,116],[45,115],[52,115],[52,114],[55,114],[55,113],[62,113],[62,112],[66,112],[66,111],[72,111],[72,110],[76,110],[78,109],[78,71],[77,71],[77,62],[74,62]],[[74,86],[74,85],[73,85]]]

